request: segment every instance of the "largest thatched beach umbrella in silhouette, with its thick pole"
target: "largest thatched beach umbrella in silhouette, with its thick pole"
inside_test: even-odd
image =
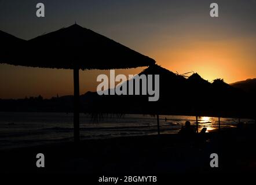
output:
[[[78,24],[28,40],[20,58],[6,64],[74,70],[74,139],[79,141],[79,69],[125,69],[155,64],[152,58]],[[12,57],[10,57],[12,58]]]

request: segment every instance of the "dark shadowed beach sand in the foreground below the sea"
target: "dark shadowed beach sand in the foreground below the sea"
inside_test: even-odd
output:
[[[178,134],[83,140],[0,150],[1,173],[93,175],[255,173],[255,125],[215,130],[204,136]],[[45,168],[36,167],[36,154]],[[210,167],[217,153],[219,168]]]

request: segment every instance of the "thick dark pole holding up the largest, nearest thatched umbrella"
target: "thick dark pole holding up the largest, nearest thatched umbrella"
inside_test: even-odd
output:
[[[74,68],[74,140],[79,142],[79,68]]]

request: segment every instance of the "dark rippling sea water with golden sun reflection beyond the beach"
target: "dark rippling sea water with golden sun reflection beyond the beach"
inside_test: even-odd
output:
[[[165,118],[167,121],[165,121]],[[195,116],[159,116],[160,133],[175,134],[185,121],[195,125]],[[244,123],[254,120],[242,119]],[[199,117],[199,131],[218,128],[218,118]],[[222,118],[221,128],[236,127],[238,119]],[[156,117],[141,114],[104,116],[95,121],[90,114],[80,114],[81,139],[157,134]],[[43,145],[73,140],[72,113],[0,112],[0,149]]]

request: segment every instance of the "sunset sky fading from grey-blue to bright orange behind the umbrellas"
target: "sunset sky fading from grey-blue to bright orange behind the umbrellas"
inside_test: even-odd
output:
[[[36,3],[45,17],[36,17]],[[217,2],[219,17],[209,15]],[[0,30],[31,39],[78,23],[156,60],[173,72],[198,72],[226,83],[256,77],[256,1],[5,1]],[[1,41],[0,41],[1,42]],[[40,51],[38,51],[38,56]],[[86,61],[85,61],[86,62]],[[120,61],[122,62],[122,61]],[[136,74],[144,68],[117,70]],[[96,91],[97,75],[81,71],[81,94]],[[73,93],[71,70],[0,64],[0,98]]]

